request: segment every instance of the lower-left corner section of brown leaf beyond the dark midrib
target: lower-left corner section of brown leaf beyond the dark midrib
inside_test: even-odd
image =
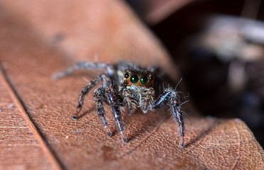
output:
[[[51,164],[45,146],[12,93],[0,71],[0,169],[58,169]]]

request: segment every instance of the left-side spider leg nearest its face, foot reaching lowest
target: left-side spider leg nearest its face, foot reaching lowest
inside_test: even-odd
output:
[[[112,115],[115,119],[117,130],[120,130],[123,142],[127,143],[127,136],[125,135],[125,132],[123,132],[123,130],[125,130],[125,127],[122,120],[122,115],[120,113],[120,98],[117,95],[117,91],[113,88],[113,86],[107,86],[105,92],[105,96],[107,96],[107,100],[109,101]]]

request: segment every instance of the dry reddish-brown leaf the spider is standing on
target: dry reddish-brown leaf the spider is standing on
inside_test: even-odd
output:
[[[131,60],[159,64],[174,78],[179,74],[157,39],[122,1],[27,3],[0,3],[0,60],[9,86],[42,138],[26,123],[24,113],[14,110],[21,104],[1,83],[0,99],[5,104],[0,108],[0,126],[7,130],[0,128],[0,134],[10,137],[0,137],[1,155],[10,155],[0,157],[4,169],[12,169],[18,159],[21,169],[263,169],[263,149],[238,119],[203,118],[186,109],[185,149],[179,148],[177,126],[166,109],[126,115],[127,144],[120,140],[110,114],[113,136],[107,137],[91,94],[85,98],[83,117],[71,120],[85,79],[98,72],[75,72],[57,81],[51,74],[77,61]],[[9,103],[14,108],[6,108]],[[12,131],[13,126],[23,128]],[[10,144],[27,146],[9,150]]]

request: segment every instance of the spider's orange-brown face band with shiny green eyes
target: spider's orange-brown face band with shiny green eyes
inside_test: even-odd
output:
[[[142,69],[127,69],[124,74],[124,85],[146,88],[153,87],[153,73]]]

